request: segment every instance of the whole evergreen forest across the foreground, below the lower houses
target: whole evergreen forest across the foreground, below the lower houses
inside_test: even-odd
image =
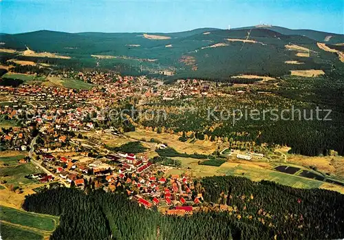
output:
[[[344,237],[344,195],[296,189],[244,177],[195,182],[200,211],[161,215],[122,194],[56,188],[26,197],[28,211],[61,216],[51,239],[338,239]],[[220,211],[217,204],[225,206]],[[224,208],[222,208],[224,209]]]

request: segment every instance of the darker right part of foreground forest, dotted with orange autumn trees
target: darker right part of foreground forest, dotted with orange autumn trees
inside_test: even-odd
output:
[[[323,189],[299,189],[245,177],[205,177],[205,201],[235,208],[243,223],[261,224],[277,239],[341,239],[344,237],[344,195]],[[284,233],[284,234],[283,234]]]

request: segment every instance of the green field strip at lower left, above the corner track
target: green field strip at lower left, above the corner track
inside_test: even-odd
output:
[[[1,206],[0,219],[10,223],[36,228],[44,231],[53,231],[58,222],[57,217],[43,216],[30,212],[24,212],[14,208]]]

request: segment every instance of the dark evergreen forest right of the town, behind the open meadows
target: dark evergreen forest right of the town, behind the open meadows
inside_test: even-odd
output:
[[[218,87],[218,91],[231,94],[230,97],[152,101],[143,109],[166,109],[166,120],[146,120],[142,125],[152,129],[164,127],[175,132],[193,132],[200,140],[204,140],[206,135],[212,141],[226,138],[229,144],[240,141],[254,142],[257,146],[263,143],[287,145],[292,148],[291,153],[302,155],[329,155],[331,150],[344,155],[344,77],[283,76],[279,81],[278,89],[260,89],[253,85],[248,90],[243,87],[250,91],[249,94],[236,94],[230,88]],[[259,91],[266,91],[266,94],[259,94]],[[175,110],[178,107],[194,109],[180,114]],[[316,118],[316,108],[321,109],[319,119]],[[208,114],[209,109],[213,114]],[[251,109],[261,113],[259,119],[250,118]],[[275,109],[279,116],[273,116],[271,109]],[[264,110],[268,110],[265,119]],[[242,113],[242,117],[239,119],[237,116],[239,120],[233,120],[233,111]],[[282,111],[283,118],[287,120],[281,118]],[[224,118],[220,118],[221,112]]]

